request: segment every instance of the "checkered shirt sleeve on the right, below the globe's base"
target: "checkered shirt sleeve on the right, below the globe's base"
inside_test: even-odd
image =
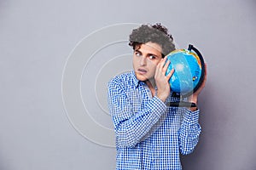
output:
[[[178,133],[179,147],[183,155],[188,155],[195,150],[201,133],[201,126],[199,124],[200,111],[184,110],[183,122]]]

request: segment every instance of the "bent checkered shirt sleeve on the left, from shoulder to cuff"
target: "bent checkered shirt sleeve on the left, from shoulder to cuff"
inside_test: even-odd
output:
[[[113,119],[118,147],[135,146],[166,111],[166,105],[154,97],[135,114],[126,91],[127,89],[120,82],[108,83],[108,107]]]

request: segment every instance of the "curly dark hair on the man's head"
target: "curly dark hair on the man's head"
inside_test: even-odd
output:
[[[175,50],[172,35],[160,23],[155,25],[142,25],[132,30],[129,45],[135,49],[137,45],[147,42],[158,43],[162,48],[162,57]]]

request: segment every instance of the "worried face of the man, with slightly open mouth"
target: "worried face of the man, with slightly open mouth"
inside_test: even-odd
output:
[[[156,65],[162,59],[162,48],[154,42],[147,42],[135,47],[133,69],[139,81],[154,80]]]

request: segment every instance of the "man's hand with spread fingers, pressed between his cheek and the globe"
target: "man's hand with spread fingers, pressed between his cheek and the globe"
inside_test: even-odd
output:
[[[157,97],[161,99],[163,102],[166,101],[167,97],[170,95],[170,83],[169,80],[172,77],[174,69],[170,71],[168,75],[166,75],[166,71],[171,61],[167,57],[160,60],[160,63],[156,66],[154,80],[157,87]]]

